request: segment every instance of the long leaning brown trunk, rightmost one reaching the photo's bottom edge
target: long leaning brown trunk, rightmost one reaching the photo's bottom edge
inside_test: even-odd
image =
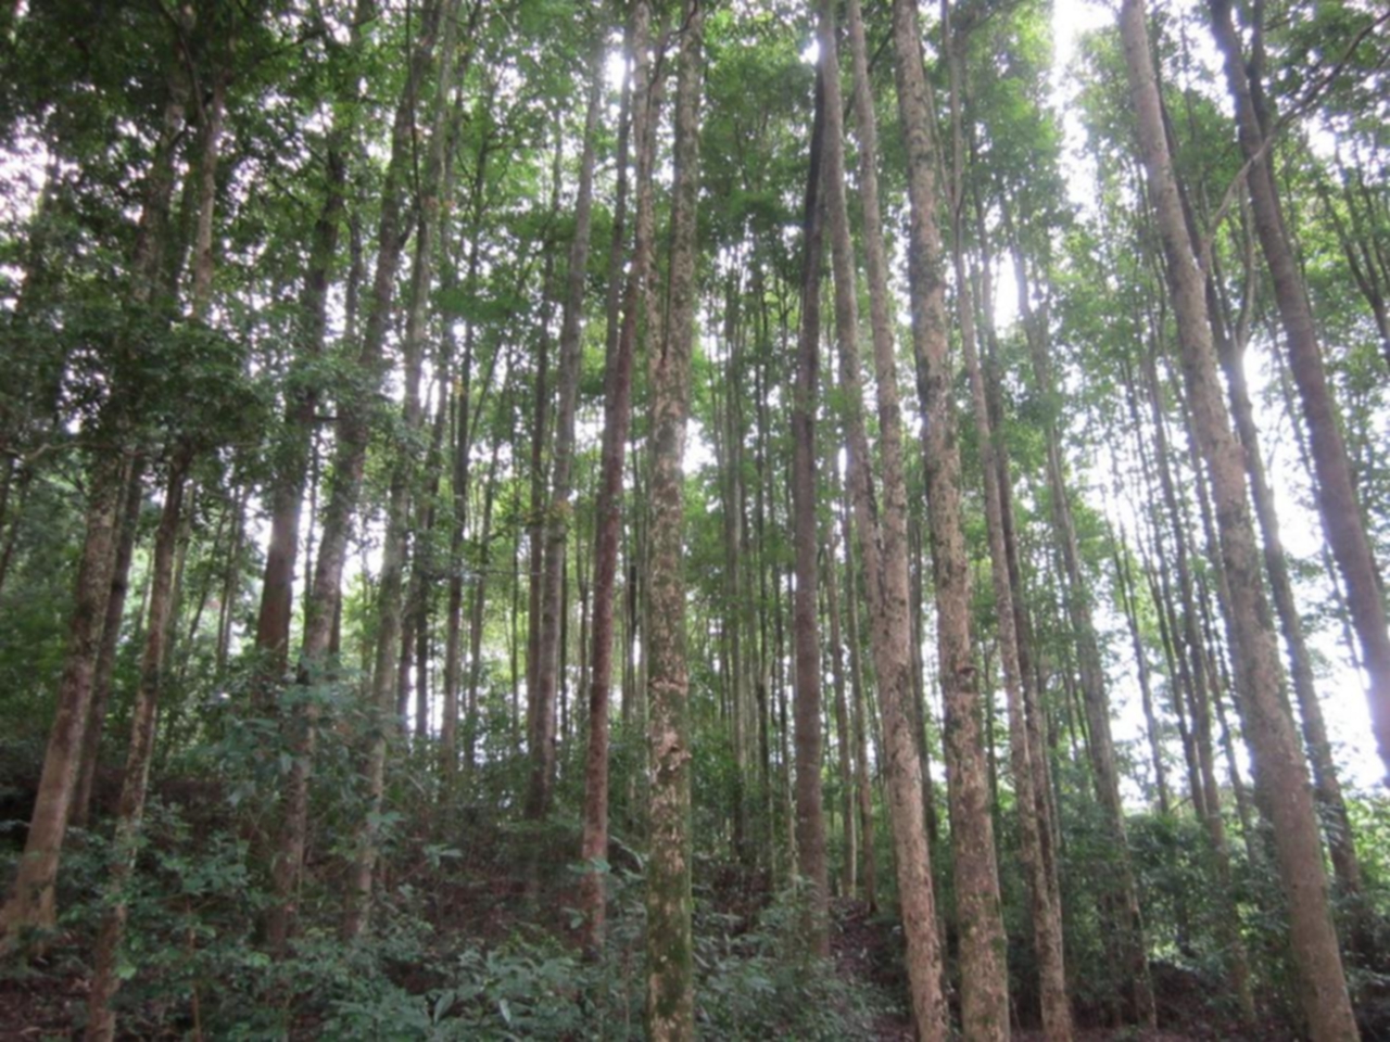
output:
[[[1265,786],[1266,806],[1273,817],[1300,1000],[1315,1042],[1355,1039],[1359,1032],[1332,924],[1308,771],[1280,693],[1279,650],[1261,584],[1241,450],[1220,396],[1204,278],[1183,222],[1172,157],[1163,136],[1143,0],[1123,1],[1120,38],[1138,114],[1140,149],[1168,261],[1183,375],[1197,439],[1212,479],[1220,552],[1230,584],[1230,617],[1226,620],[1230,647],[1237,674],[1244,679],[1237,686],[1245,692],[1245,722],[1258,781]]]

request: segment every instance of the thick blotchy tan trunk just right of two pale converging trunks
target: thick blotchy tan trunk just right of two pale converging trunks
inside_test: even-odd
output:
[[[969,560],[960,529],[960,457],[951,402],[945,283],[937,228],[935,149],[923,74],[917,10],[894,3],[898,117],[908,150],[908,285],[917,396],[924,415],[923,467],[937,602],[937,653],[945,703],[956,917],[960,928],[960,1020],[969,1039],[1009,1036],[1008,970],[994,857],[980,697],[970,654]],[[880,370],[878,379],[892,370]]]

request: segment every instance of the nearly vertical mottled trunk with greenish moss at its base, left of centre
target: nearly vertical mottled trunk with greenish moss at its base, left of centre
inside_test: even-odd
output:
[[[677,58],[674,181],[666,335],[652,360],[651,567],[648,570],[646,1031],[653,1042],[695,1036],[691,938],[691,731],[685,664],[685,421],[695,336],[695,208],[705,7],[685,0]]]

